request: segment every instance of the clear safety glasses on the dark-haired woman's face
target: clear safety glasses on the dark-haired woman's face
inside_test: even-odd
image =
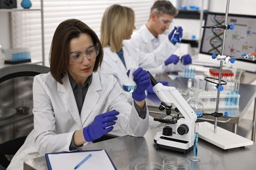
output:
[[[98,56],[99,52],[100,48],[98,47],[98,43],[83,50],[70,52],[70,64],[81,63],[85,57],[89,60],[94,59]]]

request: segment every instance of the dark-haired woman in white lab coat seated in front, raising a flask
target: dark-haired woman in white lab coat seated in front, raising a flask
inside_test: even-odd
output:
[[[112,75],[98,73],[103,50],[95,32],[70,19],[56,28],[50,73],[33,81],[34,129],[7,169],[48,152],[71,151],[102,137],[115,124],[128,135],[142,137],[148,129],[145,90],[150,76],[134,73],[137,89],[130,105]]]

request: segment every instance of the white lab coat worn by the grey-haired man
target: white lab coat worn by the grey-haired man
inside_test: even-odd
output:
[[[167,37],[168,36],[165,34],[160,34],[157,38],[154,37],[154,35],[152,35],[152,33],[146,27],[146,24],[144,24],[139,30],[133,32],[133,35],[131,36],[131,39],[128,40],[128,43],[135,46],[135,48],[142,50],[142,52],[150,53],[154,52],[154,50],[157,49],[158,46],[160,46],[160,44],[167,39]],[[172,54],[176,54],[177,56],[181,55],[179,54],[179,50],[174,50]],[[169,56],[171,56],[171,54]],[[167,58],[169,56],[167,56]],[[184,71],[184,65],[182,65],[181,62],[177,63],[177,65],[172,63],[165,66],[162,64],[160,67],[150,70],[152,73],[163,73],[168,71]]]

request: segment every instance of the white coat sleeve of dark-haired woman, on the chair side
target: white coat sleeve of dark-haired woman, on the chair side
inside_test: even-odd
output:
[[[70,151],[74,131],[56,134],[56,120],[49,98],[49,88],[35,76],[33,81],[33,114],[35,146],[39,153]],[[58,142],[56,142],[58,141]]]

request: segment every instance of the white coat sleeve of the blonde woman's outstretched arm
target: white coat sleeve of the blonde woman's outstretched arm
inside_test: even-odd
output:
[[[143,69],[159,67],[179,46],[178,44],[173,45],[169,39],[166,38],[152,53],[145,53],[139,48],[135,48],[135,46],[129,44],[127,41],[123,41],[123,44],[127,46],[129,54],[137,60],[139,67]]]

